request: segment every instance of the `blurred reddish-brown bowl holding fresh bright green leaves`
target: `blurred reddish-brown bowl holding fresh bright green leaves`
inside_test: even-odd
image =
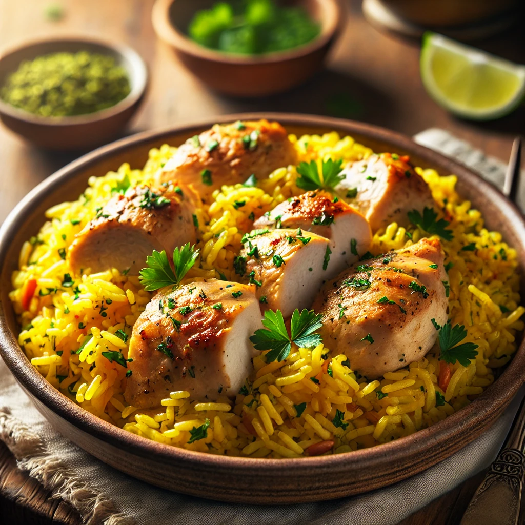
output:
[[[152,21],[156,34],[171,45],[183,64],[209,87],[239,97],[287,91],[322,68],[341,23],[338,0],[295,0],[321,24],[320,35],[289,51],[246,56],[223,53],[195,43],[186,29],[195,12],[214,0],[157,0]]]

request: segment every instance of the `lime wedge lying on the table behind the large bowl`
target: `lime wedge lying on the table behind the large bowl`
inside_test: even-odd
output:
[[[502,117],[519,106],[525,95],[525,66],[436,33],[423,35],[420,67],[428,94],[467,119]]]

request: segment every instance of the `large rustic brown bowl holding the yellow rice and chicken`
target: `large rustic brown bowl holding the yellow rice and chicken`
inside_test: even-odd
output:
[[[338,131],[375,151],[411,155],[416,165],[458,176],[457,190],[479,209],[489,229],[499,230],[525,266],[525,222],[495,187],[465,166],[415,144],[412,139],[347,120],[287,113],[242,114],[219,122],[266,117],[290,133]],[[525,379],[525,344],[486,392],[436,425],[391,443],[332,456],[254,459],[213,456],[175,448],[113,426],[55,390],[31,366],[17,343],[18,327],[8,299],[11,272],[25,239],[35,235],[50,206],[77,198],[91,175],[117,170],[123,162],[142,166],[148,150],[181,144],[216,120],[146,132],[119,140],[72,162],[39,184],[10,213],[0,229],[0,354],[39,411],[64,436],[105,463],[153,485],[205,498],[248,503],[317,501],[354,495],[390,485],[454,454],[489,428]],[[251,480],[253,482],[248,482]]]

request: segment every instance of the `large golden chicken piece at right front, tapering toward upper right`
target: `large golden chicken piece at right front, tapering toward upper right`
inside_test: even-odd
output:
[[[439,241],[424,238],[328,281],[313,303],[324,344],[370,379],[423,358],[437,338],[431,319],[447,321],[443,260]]]

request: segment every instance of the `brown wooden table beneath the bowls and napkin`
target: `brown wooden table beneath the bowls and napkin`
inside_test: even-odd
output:
[[[476,147],[507,159],[513,137],[525,130],[525,108],[496,122],[472,123],[450,116],[428,98],[419,79],[419,45],[383,35],[350,0],[349,18],[330,57],[328,69],[307,85],[285,95],[237,100],[206,89],[160,43],[151,25],[153,0],[62,0],[65,17],[46,19],[49,0],[0,0],[0,47],[26,38],[90,34],[121,40],[148,62],[148,97],[128,133],[167,127],[195,119],[241,111],[294,111],[332,114],[382,125],[406,134],[429,127],[449,130]],[[479,47],[510,60],[523,61],[525,43],[519,25]],[[79,153],[49,153],[0,127],[0,223],[31,188]],[[480,480],[478,475],[403,521],[403,525],[458,523]],[[0,522],[77,525],[78,514],[49,500],[40,484],[16,469],[0,444]]]

